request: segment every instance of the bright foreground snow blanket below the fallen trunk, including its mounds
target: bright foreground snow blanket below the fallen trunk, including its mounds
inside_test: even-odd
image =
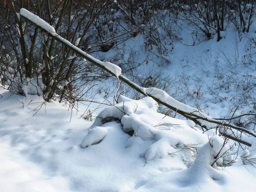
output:
[[[209,133],[211,146],[191,121],[157,113],[151,98],[119,97],[92,124],[74,115],[69,122],[71,111],[53,100],[36,113],[41,97],[0,94],[0,191],[254,190],[248,185],[256,179],[254,167],[211,167],[223,140]],[[100,116],[116,116],[124,126],[107,119],[102,124]],[[138,128],[132,137],[125,133],[131,128]],[[184,144],[201,148],[197,155],[178,152]]]

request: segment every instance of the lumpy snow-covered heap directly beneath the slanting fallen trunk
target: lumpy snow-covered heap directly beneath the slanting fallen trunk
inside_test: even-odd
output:
[[[183,160],[190,161],[194,154],[190,150],[183,150],[184,146],[192,144],[200,147],[202,143],[208,141],[207,135],[202,134],[202,131],[198,130],[190,120],[179,120],[158,113],[157,103],[150,97],[132,100],[120,96],[118,102],[115,106],[105,108],[99,113],[81,143],[82,148],[100,142],[108,133],[107,128],[101,126],[115,120],[121,122],[125,133],[132,135],[127,147],[136,143],[138,137],[145,141],[152,140],[152,144],[140,154],[146,161],[176,155],[180,151]]]

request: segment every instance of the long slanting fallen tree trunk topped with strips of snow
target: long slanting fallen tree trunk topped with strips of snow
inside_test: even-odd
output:
[[[244,127],[239,127],[234,124],[231,124],[227,121],[214,119],[208,115],[205,115],[201,113],[198,109],[192,108],[188,105],[185,105],[174,98],[172,98],[170,95],[168,95],[163,90],[157,89],[157,88],[144,88],[140,87],[139,85],[133,83],[131,80],[126,78],[125,76],[121,75],[121,68],[117,65],[110,63],[110,62],[102,62],[100,60],[97,60],[93,58],[91,55],[87,54],[86,52],[82,51],[75,45],[71,44],[68,40],[62,38],[59,36],[54,28],[46,23],[44,20],[39,18],[38,16],[34,15],[33,13],[29,12],[28,10],[22,8],[20,9],[20,15],[28,20],[30,23],[35,25],[36,27],[40,28],[44,32],[46,32],[49,36],[52,36],[56,38],[58,42],[63,44],[64,46],[71,49],[73,52],[75,52],[80,57],[83,57],[84,59],[88,60],[95,66],[100,67],[101,69],[107,71],[113,76],[116,76],[119,78],[119,80],[123,81],[125,84],[132,87],[134,90],[140,92],[141,94],[153,98],[156,102],[174,110],[176,113],[179,113],[180,115],[186,117],[187,119],[190,119],[194,121],[196,124],[206,128],[211,129],[216,127],[216,125],[221,125],[226,128],[225,132],[221,132],[224,136],[238,141],[240,143],[243,143],[247,146],[251,146],[252,143],[248,139],[248,137],[245,136],[245,134],[248,134],[249,136],[253,136],[256,138],[256,133],[253,131],[249,131],[245,129]],[[238,132],[232,131],[232,129],[237,130]],[[220,130],[221,131],[221,130]],[[245,133],[245,134],[241,134]],[[242,136],[243,135],[243,136]]]

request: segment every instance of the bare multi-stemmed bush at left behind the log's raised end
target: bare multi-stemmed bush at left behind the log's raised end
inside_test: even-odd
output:
[[[105,4],[95,0],[61,1],[60,4],[50,1],[49,7],[45,1],[45,4],[38,3],[30,1],[30,4],[38,7],[30,11],[52,25],[52,30],[81,47],[90,32],[97,34],[93,24],[97,18],[104,16],[104,7],[109,1]],[[16,94],[38,94],[46,101],[57,98],[74,103],[81,99],[81,95],[86,97],[94,86],[92,80],[98,78],[101,71],[64,48],[55,38],[47,36],[38,27],[25,22],[20,13],[16,14],[22,6],[29,9],[29,4],[22,5],[20,2],[15,5],[8,2],[4,10],[1,7],[1,28],[4,30],[0,35],[4,38],[1,39],[0,45],[0,83]],[[112,14],[107,15],[108,19],[109,15]],[[108,38],[112,37],[113,35]],[[97,43],[94,39],[86,40],[87,43]]]

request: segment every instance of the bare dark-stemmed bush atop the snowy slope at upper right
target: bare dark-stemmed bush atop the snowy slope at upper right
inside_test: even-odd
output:
[[[173,12],[173,17],[188,21],[197,36],[214,38],[217,41],[225,37],[224,32],[232,22],[240,32],[249,32],[254,22],[255,2],[214,0],[214,1],[178,1],[165,3],[166,12]]]

